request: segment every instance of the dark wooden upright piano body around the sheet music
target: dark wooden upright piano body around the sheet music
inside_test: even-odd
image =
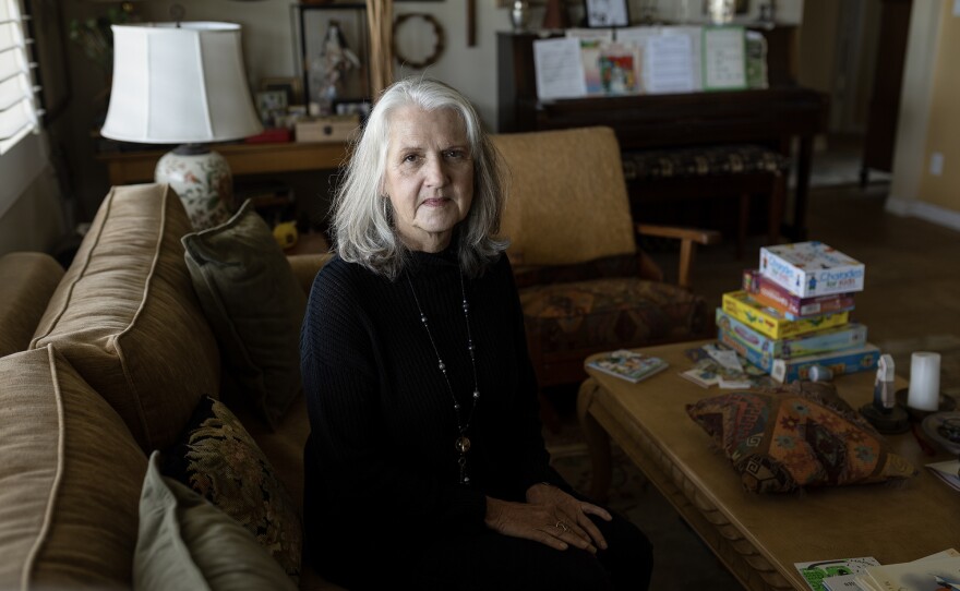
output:
[[[537,98],[533,33],[497,37],[497,109],[502,133],[609,125],[622,149],[734,143],[763,144],[795,158],[791,219],[783,236],[806,238],[814,138],[826,132],[827,95],[799,86],[795,27],[758,29],[767,38],[765,89],[684,94]]]

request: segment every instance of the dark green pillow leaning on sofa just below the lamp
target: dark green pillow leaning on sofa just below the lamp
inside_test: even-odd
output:
[[[275,426],[302,387],[300,324],[307,296],[250,200],[223,226],[182,241],[229,377]]]

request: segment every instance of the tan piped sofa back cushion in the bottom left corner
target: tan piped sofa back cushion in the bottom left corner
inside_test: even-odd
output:
[[[0,359],[0,589],[129,586],[146,457],[52,347]]]

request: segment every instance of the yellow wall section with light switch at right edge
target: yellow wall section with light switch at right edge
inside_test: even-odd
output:
[[[921,168],[917,198],[960,212],[960,16],[953,2],[943,2],[939,44],[934,65],[933,92],[927,122],[926,146]],[[929,172],[931,156],[944,155],[944,172]]]

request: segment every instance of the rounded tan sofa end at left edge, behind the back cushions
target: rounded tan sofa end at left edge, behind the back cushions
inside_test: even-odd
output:
[[[0,357],[29,347],[63,267],[39,252],[13,252],[0,257]]]

